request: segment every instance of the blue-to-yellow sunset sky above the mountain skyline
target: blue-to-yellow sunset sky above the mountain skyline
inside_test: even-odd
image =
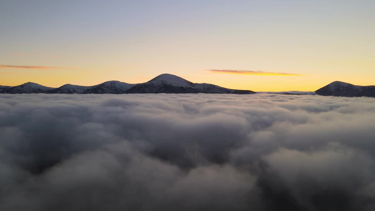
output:
[[[0,85],[141,83],[162,73],[254,91],[375,85],[374,8],[374,0],[1,0]]]

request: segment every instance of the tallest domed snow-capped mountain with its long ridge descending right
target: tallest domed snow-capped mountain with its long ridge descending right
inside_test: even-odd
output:
[[[140,83],[125,93],[255,93],[250,90],[235,90],[207,83],[192,83],[172,74],[161,74],[150,81]]]

